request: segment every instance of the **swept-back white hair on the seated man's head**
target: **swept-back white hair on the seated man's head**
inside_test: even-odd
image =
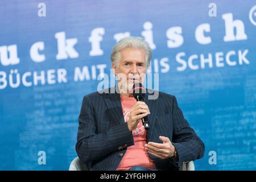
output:
[[[115,66],[118,65],[120,59],[121,59],[121,51],[126,48],[138,48],[143,49],[146,52],[146,64],[147,67],[150,65],[150,60],[152,56],[151,48],[149,44],[141,37],[138,36],[128,36],[126,38],[123,38],[118,41],[117,44],[115,44],[113,51],[111,53],[111,61],[115,64]]]

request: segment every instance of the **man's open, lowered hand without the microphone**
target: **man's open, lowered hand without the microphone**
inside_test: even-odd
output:
[[[160,136],[159,139],[163,143],[148,142],[145,144],[148,154],[154,155],[160,159],[167,159],[175,156],[176,149],[170,139],[162,136]]]

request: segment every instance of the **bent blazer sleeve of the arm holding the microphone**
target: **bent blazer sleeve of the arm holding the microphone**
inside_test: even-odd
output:
[[[133,135],[126,122],[110,128],[106,133],[97,133],[93,105],[88,96],[83,98],[76,143],[77,155],[83,163],[104,158],[111,152],[120,150],[119,146],[133,144]]]

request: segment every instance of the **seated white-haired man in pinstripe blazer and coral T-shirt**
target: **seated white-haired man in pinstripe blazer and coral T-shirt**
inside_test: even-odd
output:
[[[118,84],[84,97],[76,151],[90,170],[176,170],[203,157],[204,143],[175,96],[147,89],[144,101],[133,97],[131,89],[144,81],[151,55],[142,38],[121,39],[111,55]],[[158,97],[150,99],[152,94]],[[149,130],[141,122],[146,116]]]

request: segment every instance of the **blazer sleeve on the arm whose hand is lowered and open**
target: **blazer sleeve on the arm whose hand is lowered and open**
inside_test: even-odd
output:
[[[176,148],[178,156],[178,167],[183,165],[183,162],[189,162],[203,158],[204,156],[204,143],[197,137],[195,131],[189,127],[187,120],[184,118],[183,113],[177,105],[176,97],[173,99],[172,117],[174,124],[174,133],[172,144]]]

